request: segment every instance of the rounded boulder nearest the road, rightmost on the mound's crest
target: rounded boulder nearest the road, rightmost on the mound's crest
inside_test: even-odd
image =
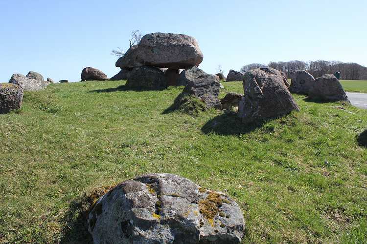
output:
[[[308,98],[326,102],[348,101],[342,84],[332,74],[317,78],[310,88]]]

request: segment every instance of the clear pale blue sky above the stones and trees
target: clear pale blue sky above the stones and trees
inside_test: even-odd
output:
[[[1,0],[0,81],[37,71],[78,81],[86,66],[115,75],[111,50],[130,32],[195,37],[200,68],[338,60],[367,66],[366,0]]]

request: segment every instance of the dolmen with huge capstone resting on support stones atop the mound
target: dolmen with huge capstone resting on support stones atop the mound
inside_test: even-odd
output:
[[[146,67],[166,68],[162,72],[166,78],[165,86],[168,86],[178,85],[180,69],[198,66],[202,61],[203,53],[195,38],[183,34],[158,32],[143,36],[138,45],[131,46],[124,56],[116,61],[115,66],[129,73],[124,77],[127,78],[126,85],[129,87],[137,87],[133,81],[137,81],[139,77],[135,76],[147,76],[143,73],[151,72],[151,69]],[[157,76],[158,82],[161,82],[160,75]],[[144,81],[140,81],[139,86],[152,88],[151,81],[146,87]],[[158,87],[161,87],[161,84]]]

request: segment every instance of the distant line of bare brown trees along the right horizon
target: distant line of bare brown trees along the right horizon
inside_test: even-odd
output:
[[[268,65],[262,63],[252,63],[241,68],[241,72],[260,67],[272,67],[283,71],[288,78],[292,78],[292,74],[297,70],[306,70],[315,78],[324,74],[341,73],[341,80],[367,80],[367,67],[358,63],[345,63],[341,61],[288,61],[288,62],[270,62]]]

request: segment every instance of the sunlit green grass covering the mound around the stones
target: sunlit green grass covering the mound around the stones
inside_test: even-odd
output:
[[[182,87],[124,83],[52,84],[0,115],[0,243],[89,240],[91,192],[148,172],[227,192],[244,243],[367,242],[367,152],[356,142],[367,110],[295,95],[300,112],[246,126],[214,109],[163,113]],[[221,97],[243,92],[223,84]]]

